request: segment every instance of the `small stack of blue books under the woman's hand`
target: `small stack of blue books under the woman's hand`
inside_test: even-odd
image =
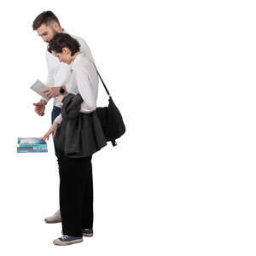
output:
[[[47,143],[39,137],[18,137],[17,153],[38,153],[48,152]]]

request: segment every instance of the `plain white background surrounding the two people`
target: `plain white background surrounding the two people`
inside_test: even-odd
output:
[[[127,131],[93,157],[95,236],[55,247],[59,177],[48,154],[16,154],[49,129],[29,89],[45,81],[32,21],[52,10],[84,38]],[[254,1],[1,3],[1,255],[255,255]],[[99,106],[108,103],[101,85]],[[81,254],[83,253],[83,254]]]

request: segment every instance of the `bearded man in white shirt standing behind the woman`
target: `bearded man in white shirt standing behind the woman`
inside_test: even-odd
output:
[[[43,38],[44,42],[49,43],[49,41],[55,36],[56,33],[64,32],[67,33],[63,28],[61,28],[60,22],[55,14],[51,11],[45,11],[38,15],[38,17],[33,21],[32,24],[33,30],[38,32],[38,36]],[[90,53],[88,45],[84,42],[84,39],[71,35],[73,38],[77,39],[80,44],[80,50],[84,53],[85,57],[94,61]],[[48,67],[48,77],[46,80],[46,85],[49,86],[49,89],[44,90],[44,95],[47,96],[42,98],[39,102],[33,103],[35,106],[35,112],[39,116],[44,115],[45,105],[50,98],[54,100],[54,107],[51,113],[51,122],[61,113],[60,103],[57,101],[57,96],[60,96],[60,90],[65,90],[65,84],[70,76],[70,66],[65,62],[60,62],[55,55],[49,53],[46,49],[46,62]],[[58,139],[58,132],[55,135],[55,140]],[[58,149],[55,148],[55,155],[57,157],[59,173],[61,172],[61,166],[59,161]],[[45,218],[46,223],[59,223],[61,222],[61,213],[60,210],[55,212],[53,216]],[[88,236],[92,236],[92,230],[88,230]]]

